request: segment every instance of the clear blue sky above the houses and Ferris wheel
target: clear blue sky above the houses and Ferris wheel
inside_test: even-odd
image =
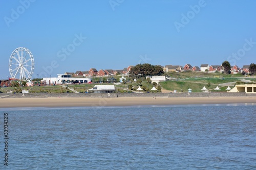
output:
[[[242,67],[256,63],[255,8],[254,0],[0,0],[0,78],[17,47],[32,52],[33,78],[145,62]]]

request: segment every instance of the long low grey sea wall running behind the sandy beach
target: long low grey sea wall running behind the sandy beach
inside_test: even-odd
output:
[[[192,93],[0,93],[0,98],[214,98],[256,96],[252,93],[192,92]]]

